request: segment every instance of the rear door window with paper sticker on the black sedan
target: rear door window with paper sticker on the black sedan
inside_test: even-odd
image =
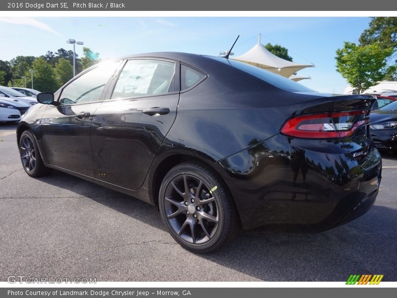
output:
[[[160,60],[129,60],[111,98],[157,95],[175,91],[175,63]]]

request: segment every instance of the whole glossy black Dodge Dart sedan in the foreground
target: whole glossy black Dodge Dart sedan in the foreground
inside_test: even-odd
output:
[[[381,179],[372,95],[317,93],[234,60],[151,53],[40,93],[17,127],[26,173],[52,169],[159,207],[195,252],[241,224],[322,231],[368,211]]]

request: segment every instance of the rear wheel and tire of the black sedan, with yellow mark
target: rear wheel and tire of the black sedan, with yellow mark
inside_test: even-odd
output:
[[[192,252],[215,251],[238,230],[237,210],[228,188],[203,163],[173,167],[161,183],[159,207],[171,236]]]

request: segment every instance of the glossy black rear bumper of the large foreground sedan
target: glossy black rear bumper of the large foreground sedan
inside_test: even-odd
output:
[[[321,231],[371,208],[382,159],[374,147],[357,162],[343,142],[277,135],[213,166],[229,186],[244,228],[282,224]]]

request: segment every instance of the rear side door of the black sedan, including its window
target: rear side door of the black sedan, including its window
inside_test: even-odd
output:
[[[128,60],[96,111],[91,147],[96,178],[138,189],[176,117],[179,64]]]

